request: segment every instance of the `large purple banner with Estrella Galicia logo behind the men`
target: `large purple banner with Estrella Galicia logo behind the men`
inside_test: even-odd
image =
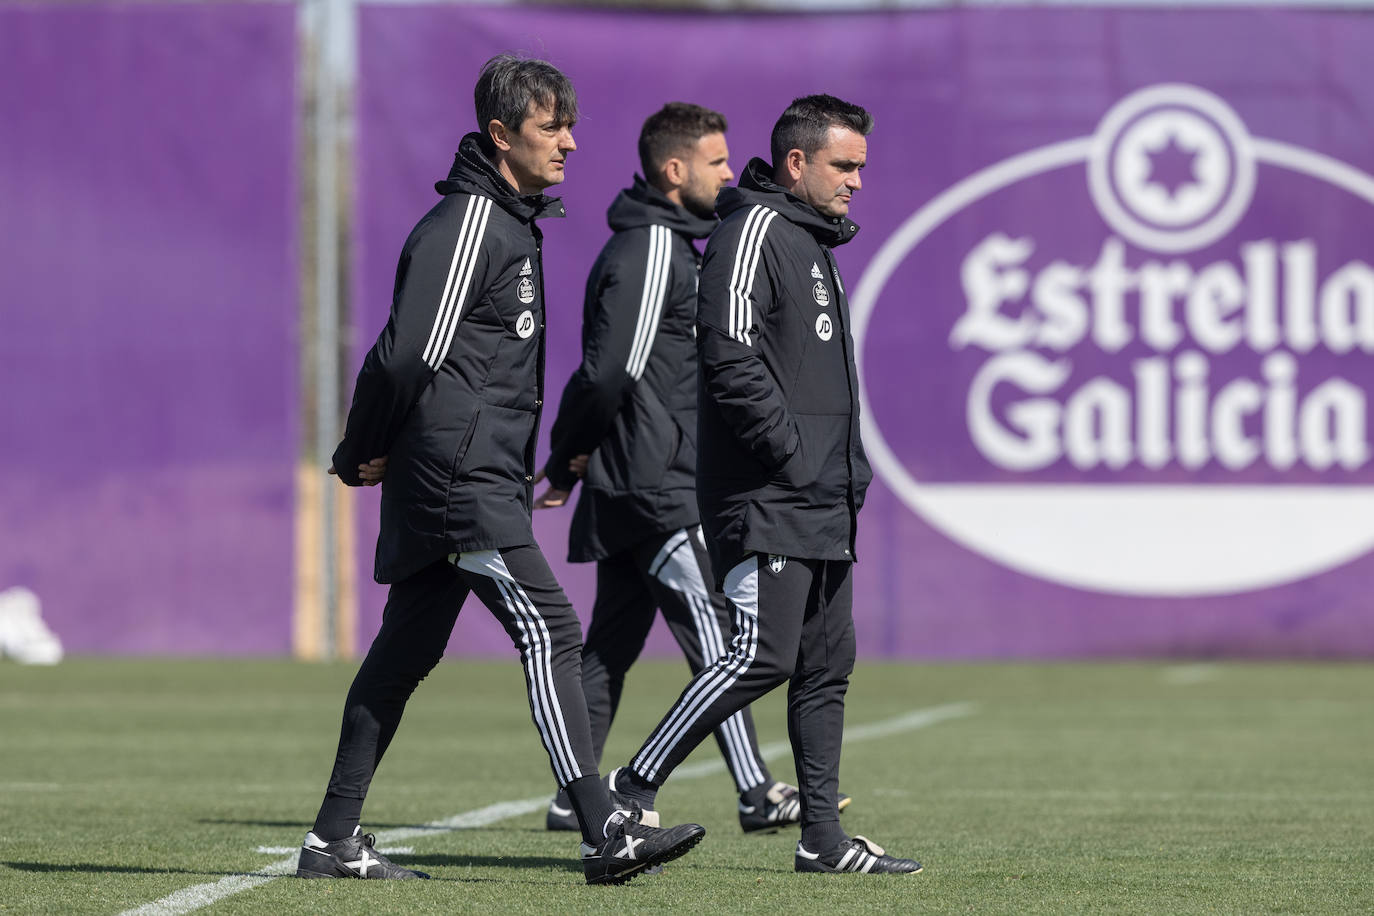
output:
[[[359,34],[356,358],[492,54],[548,58],[583,110],[545,225],[548,404],[644,117],[723,111],[738,172],[829,92],[877,119],[837,251],[875,470],[860,656],[1374,654],[1374,18],[386,4]],[[585,611],[567,522],[536,530]],[[449,650],[510,647],[474,602]]]

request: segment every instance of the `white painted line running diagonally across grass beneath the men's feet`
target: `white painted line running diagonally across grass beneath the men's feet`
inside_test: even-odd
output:
[[[969,715],[976,710],[977,706],[974,703],[947,703],[944,706],[914,710],[882,722],[856,725],[845,729],[845,744],[926,728],[927,725],[936,725],[949,718]],[[791,754],[791,746],[786,742],[774,742],[772,744],[764,744],[760,747],[758,753],[763,754],[764,758],[783,757],[786,754]],[[723,761],[703,761],[701,764],[679,766],[673,770],[673,776],[677,779],[699,779],[710,773],[724,772],[724,769],[725,764]],[[488,824],[495,824],[511,817],[519,817],[521,814],[530,814],[533,812],[543,810],[543,808],[548,805],[548,798],[550,797],[545,792],[539,798],[497,802],[496,805],[488,805],[486,808],[480,808],[473,812],[463,812],[462,814],[430,821],[429,824],[422,824],[419,827],[401,827],[397,829],[381,831],[376,834],[376,846],[382,851],[392,851],[393,845],[401,840],[415,839],[419,836],[440,836],[442,834],[451,834],[456,829],[486,827]],[[258,847],[260,851],[272,853],[276,853],[279,847],[267,846]],[[265,884],[276,878],[293,875],[295,873],[295,860],[297,853],[295,849],[293,849],[291,854],[286,858],[278,860],[261,871],[253,872],[251,875],[228,875],[217,882],[184,887],[176,893],[168,894],[162,900],[155,900],[151,904],[126,909],[120,916],[183,916],[183,913],[190,913],[201,909],[202,906],[209,906],[210,904],[221,901],[225,897],[232,897],[234,894],[251,890],[253,887]]]

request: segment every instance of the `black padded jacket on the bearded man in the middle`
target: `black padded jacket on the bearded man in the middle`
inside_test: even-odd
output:
[[[587,279],[583,361],[563,389],[545,464],[589,455],[567,559],[614,556],[697,525],[697,269],[716,220],[692,216],[635,176],[606,213],[614,235]]]

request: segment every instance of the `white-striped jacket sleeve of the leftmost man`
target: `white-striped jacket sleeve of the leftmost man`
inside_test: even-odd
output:
[[[462,209],[462,205],[459,205]],[[444,363],[464,310],[486,287],[485,198],[469,198],[471,225],[431,214],[401,250],[392,314],[363,360],[334,468],[361,485],[357,466],[389,455],[405,420]]]

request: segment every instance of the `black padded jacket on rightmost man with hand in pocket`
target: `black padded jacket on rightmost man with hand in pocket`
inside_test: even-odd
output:
[[[716,584],[754,552],[852,560],[872,472],[831,249],[859,227],[783,191],[761,159],[716,210],[697,312],[697,499]]]

